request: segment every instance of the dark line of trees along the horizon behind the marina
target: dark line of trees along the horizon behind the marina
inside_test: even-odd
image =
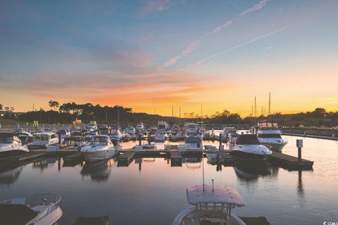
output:
[[[184,122],[198,122],[201,121],[201,116],[195,113],[184,113],[184,118],[165,117],[161,115],[134,113],[132,108],[125,108],[120,105],[113,107],[105,105],[93,105],[92,103],[77,104],[77,103],[63,103],[60,105],[57,101],[49,101],[51,110],[34,110],[27,113],[13,113],[13,108],[6,107],[3,111],[2,117],[18,120],[21,122],[34,122],[46,124],[68,124],[75,120],[82,120],[88,123],[95,120],[98,123],[108,124],[136,124],[137,122],[144,122],[146,124],[156,124],[159,120],[165,120],[171,124]],[[4,108],[0,104],[1,108]],[[0,109],[1,110],[1,109]],[[338,126],[338,112],[327,112],[325,108],[316,108],[311,112],[295,113],[295,114],[281,114],[275,113],[269,116],[259,117],[241,117],[237,113],[230,113],[228,110],[223,112],[216,112],[210,116],[204,116],[203,121],[206,124],[247,124],[253,125],[261,120],[272,120],[278,122],[280,126],[292,127],[337,127]]]

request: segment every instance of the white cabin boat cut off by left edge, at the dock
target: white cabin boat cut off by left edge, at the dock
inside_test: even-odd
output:
[[[0,133],[0,157],[20,155],[28,153],[27,146],[23,146],[21,140],[11,133]]]

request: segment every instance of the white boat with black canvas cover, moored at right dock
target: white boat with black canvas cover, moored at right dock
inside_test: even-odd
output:
[[[248,162],[251,165],[265,163],[271,154],[271,150],[261,145],[253,134],[240,135],[234,146],[230,146],[230,155],[236,162]]]

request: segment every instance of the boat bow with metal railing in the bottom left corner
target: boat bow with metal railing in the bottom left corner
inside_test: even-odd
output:
[[[61,218],[61,196],[41,194],[0,202],[1,224],[52,225]]]

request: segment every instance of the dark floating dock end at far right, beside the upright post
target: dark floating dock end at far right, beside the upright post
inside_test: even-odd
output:
[[[269,155],[269,161],[285,169],[312,169],[313,167],[313,161],[301,159],[301,162],[299,162],[298,158],[292,155],[276,151],[273,151],[273,154]]]

